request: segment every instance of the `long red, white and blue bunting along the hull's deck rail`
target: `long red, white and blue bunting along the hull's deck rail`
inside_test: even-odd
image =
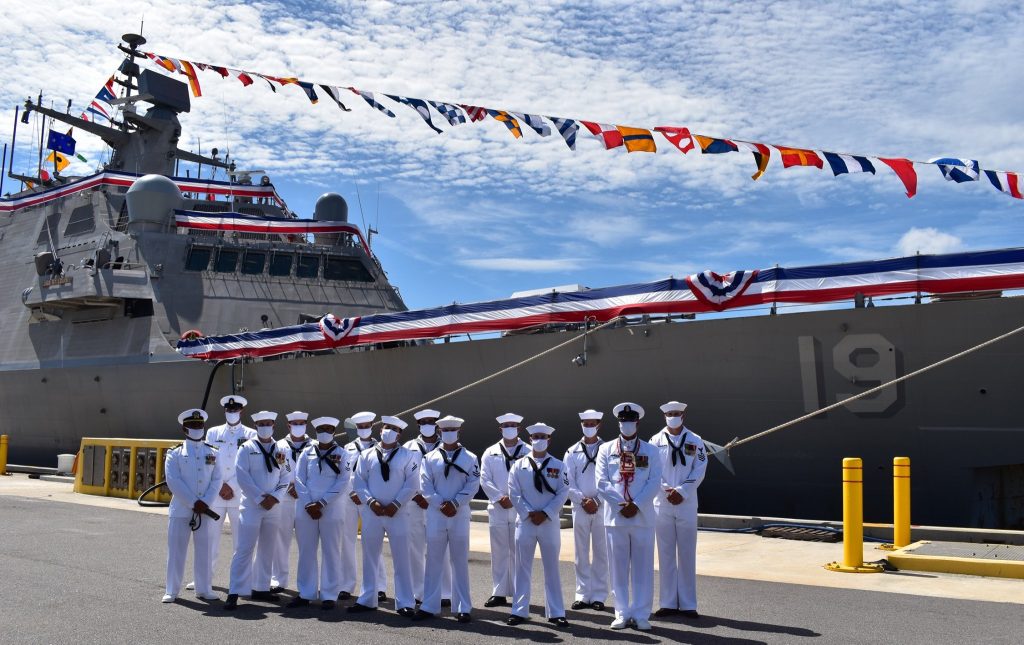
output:
[[[714,273],[350,318],[179,341],[193,358],[294,351],[506,332],[550,322],[610,320],[644,313],[694,313],[774,303],[825,303],[857,294],[949,294],[1024,288],[1024,249]]]

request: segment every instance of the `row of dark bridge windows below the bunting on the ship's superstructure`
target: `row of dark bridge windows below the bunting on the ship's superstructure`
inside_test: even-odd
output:
[[[240,249],[193,247],[185,259],[186,271],[241,272],[244,275],[316,278],[372,283],[374,276],[358,258],[294,254]]]

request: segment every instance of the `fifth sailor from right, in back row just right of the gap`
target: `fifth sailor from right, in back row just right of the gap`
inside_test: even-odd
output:
[[[507,604],[515,580],[516,512],[509,499],[509,472],[516,460],[529,451],[519,438],[522,417],[507,413],[497,418],[502,438],[480,458],[480,487],[487,496],[487,530],[490,533],[490,582],[494,588],[484,607]]]

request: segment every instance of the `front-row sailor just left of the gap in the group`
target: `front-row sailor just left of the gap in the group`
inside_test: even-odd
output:
[[[427,500],[427,572],[423,604],[414,620],[432,618],[441,608],[443,555],[452,558],[452,609],[459,622],[470,621],[469,503],[480,489],[476,456],[459,443],[463,420],[444,417],[437,422],[441,447],[428,453],[420,468],[420,491]]]

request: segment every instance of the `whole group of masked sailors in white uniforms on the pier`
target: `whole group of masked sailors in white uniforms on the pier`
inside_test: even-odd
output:
[[[340,421],[287,415],[289,436],[273,439],[276,413],[252,415],[248,401],[221,400],[226,423],[205,430],[202,410],[187,410],[178,423],[187,440],[168,450],[165,473],[173,493],[169,509],[167,585],[163,602],[181,589],[188,535],[195,543],[197,597],[215,600],[212,571],[220,528],[230,518],[233,556],[224,609],[240,596],[279,600],[289,584],[289,552],[298,545],[298,595],[288,607],[319,601],[335,608],[355,592],[355,543],[361,522],[362,578],[352,613],[375,611],[386,600],[382,557],[387,535],[394,571],[397,613],[422,620],[451,605],[460,622],[471,619],[469,592],[470,501],[482,488],[488,500],[492,595],[485,607],[506,605],[509,625],[529,619],[530,578],[538,547],[544,569],[545,615],[568,624],[562,601],[558,556],[559,516],[572,505],[575,595],[571,608],[603,611],[610,592],[611,629],[651,629],[655,536],[660,598],[654,616],[695,618],[697,486],[708,453],[684,425],[686,403],[662,405],[666,425],[651,440],[639,438],[643,408],[614,406],[618,436],[598,436],[603,413],[580,413],[582,438],[562,460],[548,453],[555,429],[544,423],[525,430],[523,418],[498,417],[501,439],[477,457],[459,440],[463,420],[416,413],[419,435],[400,442],[407,424],[377,416],[352,416],[357,438],[335,441]],[[204,441],[204,439],[206,441]],[[610,556],[610,557],[609,557]]]

